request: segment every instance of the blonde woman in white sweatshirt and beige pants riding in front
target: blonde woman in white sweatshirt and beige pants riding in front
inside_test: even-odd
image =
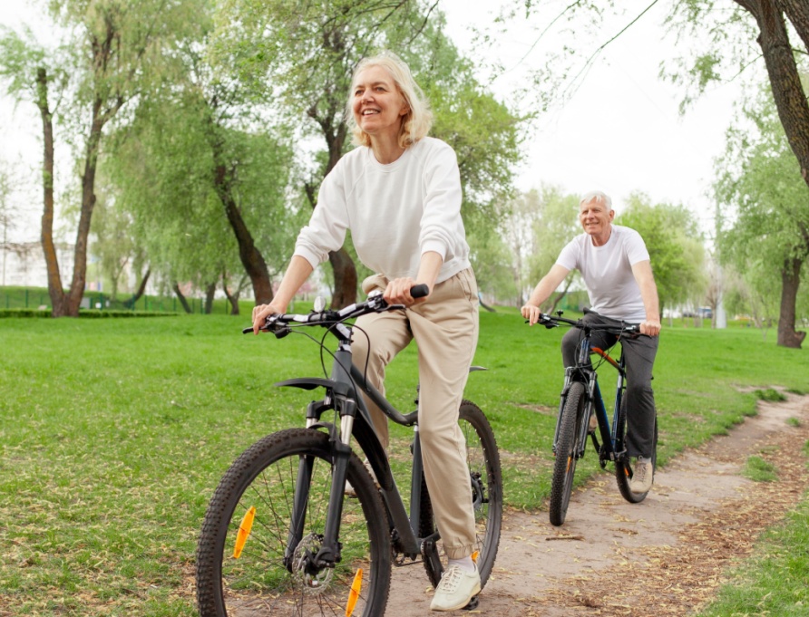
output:
[[[478,338],[477,285],[461,219],[461,178],[455,153],[427,137],[432,114],[407,65],[392,53],[356,67],[346,107],[357,148],[324,179],[317,207],[297,237],[295,253],[271,304],[253,310],[253,328],[285,313],[297,289],[346,230],[356,254],[376,274],[363,282],[405,311],[377,313],[357,323],[355,363],[384,392],[385,365],[418,344],[419,429],[424,475],[449,564],[431,603],[434,611],[463,608],[481,590],[473,563],[475,526],[466,445],[458,409]],[[410,289],[427,284],[414,299]],[[385,448],[385,415],[369,404]]]

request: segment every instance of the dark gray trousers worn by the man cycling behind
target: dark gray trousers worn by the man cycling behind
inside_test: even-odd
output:
[[[620,326],[621,322],[587,313],[585,323]],[[626,325],[626,323],[624,323]],[[579,328],[570,328],[561,340],[561,357],[565,368],[576,364],[579,342],[584,336]],[[607,350],[618,340],[613,334],[592,333],[590,345]],[[655,393],[652,390],[652,367],[658,353],[659,336],[621,337],[627,362],[627,454],[630,457],[652,455],[655,439]],[[609,401],[609,397],[607,399]]]

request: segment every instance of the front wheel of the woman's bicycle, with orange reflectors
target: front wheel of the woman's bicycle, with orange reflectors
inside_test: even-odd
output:
[[[307,551],[316,554],[322,540],[332,461],[329,436],[314,429],[279,431],[236,459],[219,482],[202,524],[196,574],[200,617],[373,617],[385,612],[391,574],[387,518],[373,479],[354,453],[347,476],[356,498],[343,502],[341,560],[334,568],[310,564],[311,569],[304,569]],[[306,520],[287,565],[284,553],[298,468],[308,463],[312,474]],[[253,515],[248,514],[251,508]],[[240,527],[243,537],[247,532],[247,542],[235,557]],[[352,585],[358,592],[356,606],[346,612]]]

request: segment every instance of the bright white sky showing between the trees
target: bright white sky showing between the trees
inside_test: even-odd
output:
[[[440,2],[453,38],[473,58],[481,57],[481,52],[471,48],[470,26],[492,23],[493,11],[501,4],[502,0]],[[36,14],[29,5],[30,0],[0,0],[0,24],[17,26],[24,19],[30,23]],[[559,7],[560,3],[548,5]],[[634,16],[648,2],[622,0],[621,5]],[[633,13],[631,8],[636,5]],[[713,178],[713,159],[723,152],[725,130],[733,118],[733,103],[740,98],[741,84],[718,86],[685,116],[679,115],[682,91],[658,77],[659,64],[677,55],[673,43],[664,40],[661,24],[667,7],[668,3],[659,3],[610,43],[572,99],[536,123],[526,144],[518,188],[528,190],[548,183],[574,194],[599,188],[613,198],[618,213],[631,192],[643,191],[655,202],[686,205],[710,231],[713,204],[707,190]],[[627,21],[605,28],[604,41]],[[513,25],[486,52],[498,54],[506,66],[513,67],[490,84],[495,96],[507,104],[512,104],[514,84],[523,82],[525,72],[541,64],[548,45],[575,45],[574,40],[561,41],[558,35],[554,42],[554,35],[549,34],[529,53],[537,39],[532,25],[536,24]],[[21,212],[16,240],[39,237],[40,132],[31,103],[15,111],[7,97],[0,97],[0,161],[15,164],[27,180],[14,196]]]

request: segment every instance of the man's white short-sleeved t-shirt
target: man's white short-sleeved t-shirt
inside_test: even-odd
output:
[[[568,270],[579,269],[593,311],[640,323],[646,320],[646,309],[632,265],[648,258],[646,244],[637,231],[613,225],[606,245],[593,246],[588,234],[580,234],[561,249],[556,263]]]

